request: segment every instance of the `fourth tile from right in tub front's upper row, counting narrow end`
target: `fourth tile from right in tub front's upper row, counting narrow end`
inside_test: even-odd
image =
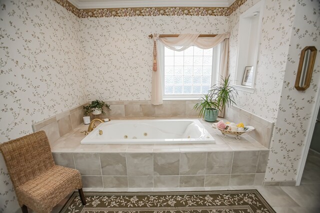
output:
[[[180,175],[204,175],[206,153],[181,153]]]

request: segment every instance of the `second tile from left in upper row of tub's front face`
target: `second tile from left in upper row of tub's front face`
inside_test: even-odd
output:
[[[73,153],[75,168],[81,175],[101,176],[99,154],[97,153]]]

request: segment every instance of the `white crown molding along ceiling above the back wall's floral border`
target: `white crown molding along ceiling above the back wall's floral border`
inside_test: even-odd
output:
[[[78,9],[93,8],[134,8],[134,7],[229,7],[234,0],[108,0],[86,1],[68,0]]]

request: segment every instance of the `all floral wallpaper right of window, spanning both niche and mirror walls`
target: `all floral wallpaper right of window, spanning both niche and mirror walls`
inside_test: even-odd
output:
[[[229,71],[234,78],[239,15],[257,0],[247,0],[229,15]],[[254,93],[239,91],[237,106],[275,122],[265,181],[294,181],[320,85],[317,55],[311,85],[294,88],[301,49],[320,50],[320,3],[312,0],[265,1]],[[249,103],[249,104],[248,104]]]

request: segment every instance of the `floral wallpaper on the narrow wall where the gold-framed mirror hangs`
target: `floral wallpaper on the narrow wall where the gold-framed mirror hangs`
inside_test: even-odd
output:
[[[306,134],[310,131],[311,113],[318,110],[313,108],[320,86],[320,1],[297,0],[294,10],[281,99],[265,175],[267,181],[296,180]],[[298,91],[294,83],[300,52],[305,46],[315,46],[317,55],[310,87]]]

